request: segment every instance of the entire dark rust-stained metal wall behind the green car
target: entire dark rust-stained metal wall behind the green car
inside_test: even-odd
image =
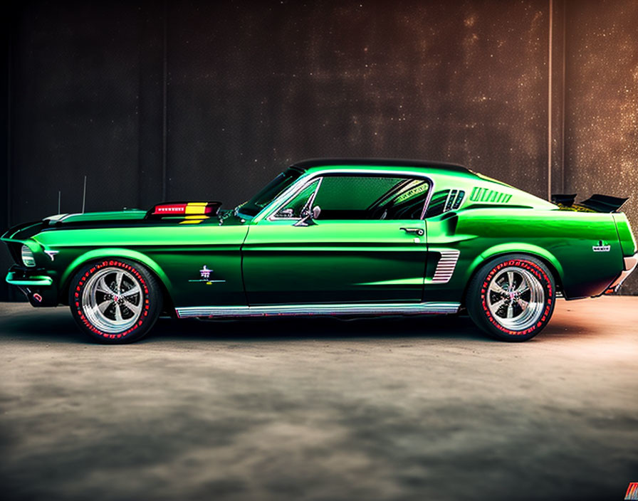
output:
[[[80,209],[84,174],[87,210],[162,198],[233,206],[286,164],[318,156],[459,162],[547,195],[548,0],[165,9],[32,2],[6,18],[1,226],[53,213],[58,189],[63,211]],[[631,194],[624,179],[637,195],[627,180],[636,10],[629,0],[553,1],[555,191]],[[602,181],[611,178],[617,185]]]

